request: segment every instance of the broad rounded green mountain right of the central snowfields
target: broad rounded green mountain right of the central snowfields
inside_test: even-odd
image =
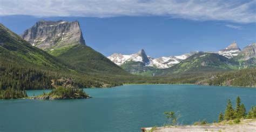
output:
[[[238,69],[239,63],[215,53],[199,52],[171,68],[163,69],[157,75],[170,75],[192,72],[211,72]]]

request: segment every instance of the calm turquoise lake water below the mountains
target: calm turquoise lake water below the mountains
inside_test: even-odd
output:
[[[240,96],[246,109],[256,105],[253,88],[125,85],[85,91],[93,98],[0,100],[0,131],[140,131],[166,123],[165,111],[179,111],[180,121],[191,124],[199,119],[217,120],[228,98],[234,104]]]

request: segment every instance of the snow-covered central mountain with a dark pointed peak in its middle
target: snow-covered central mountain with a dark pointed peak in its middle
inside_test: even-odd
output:
[[[164,68],[170,68],[174,64],[177,64],[180,61],[185,60],[187,57],[189,57],[193,54],[196,54],[196,53],[198,53],[198,52],[186,53],[186,54],[183,54],[180,56],[168,56],[168,57],[153,58],[153,57],[147,56],[144,49],[142,49],[136,54],[122,55],[122,54],[114,53],[107,58],[109,58],[112,62],[116,63],[117,65],[123,65],[127,62],[133,61],[133,62],[142,62],[145,67],[154,67],[157,69],[164,69]],[[131,63],[129,63],[129,64],[131,64]],[[134,64],[134,63],[132,63],[132,64]],[[137,64],[140,65],[140,63],[137,63]],[[127,64],[125,67],[127,67]]]

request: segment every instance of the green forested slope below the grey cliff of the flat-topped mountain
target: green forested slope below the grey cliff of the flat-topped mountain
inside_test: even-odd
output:
[[[62,50],[62,53],[57,58],[68,62],[80,72],[118,76],[130,75],[104,55],[85,45],[76,45]]]

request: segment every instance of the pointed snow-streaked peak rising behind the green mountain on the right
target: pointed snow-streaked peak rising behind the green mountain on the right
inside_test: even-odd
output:
[[[223,55],[227,58],[232,58],[237,56],[241,52],[241,49],[238,47],[237,42],[231,43],[227,48],[221,49],[218,54]]]

